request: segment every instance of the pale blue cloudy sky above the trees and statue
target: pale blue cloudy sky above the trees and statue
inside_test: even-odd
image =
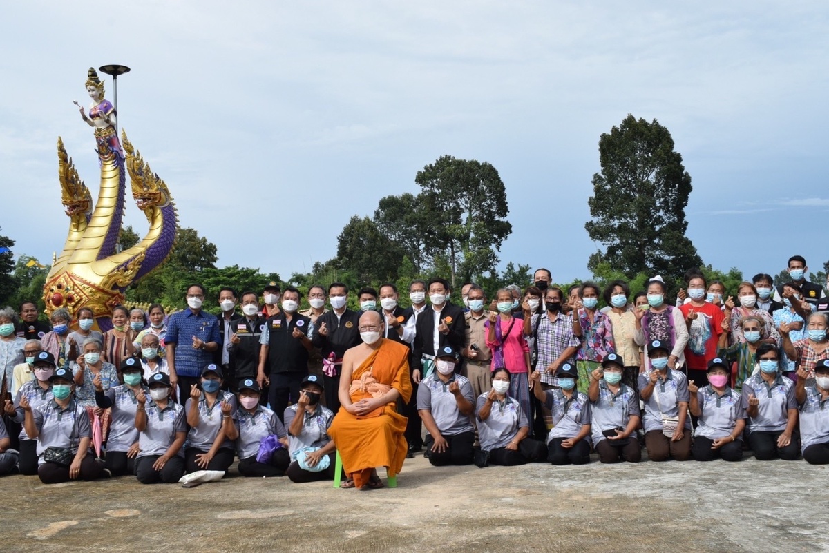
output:
[[[17,2],[0,31],[0,233],[41,261],[68,223],[58,136],[97,189],[72,100],[108,63],[132,67],[121,127],[220,266],[307,271],[449,154],[507,185],[502,262],[589,276],[599,136],[628,113],[671,131],[706,263],[829,259],[823,2]],[[131,200],[126,223],[146,230]]]

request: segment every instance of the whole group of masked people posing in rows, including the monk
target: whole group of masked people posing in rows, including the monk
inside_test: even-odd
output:
[[[339,478],[380,488],[420,451],[434,465],[757,459],[829,463],[829,305],[789,260],[735,291],[686,273],[669,301],[656,276],[562,290],[546,269],[491,300],[415,280],[303,292],[223,288],[221,315],[187,308],[0,310],[0,474],[44,483],[198,470]],[[734,296],[736,294],[736,301]],[[261,299],[264,303],[260,302]],[[599,307],[604,299],[604,307]],[[327,308],[326,303],[330,306]],[[238,313],[237,310],[241,312]],[[824,415],[827,413],[827,415]]]

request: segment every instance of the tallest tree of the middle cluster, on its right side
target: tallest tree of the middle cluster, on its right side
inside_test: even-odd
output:
[[[414,181],[423,190],[420,197],[434,230],[427,253],[446,256],[453,288],[458,277],[472,280],[494,271],[496,252],[512,232],[507,190],[495,167],[442,156],[418,171]]]

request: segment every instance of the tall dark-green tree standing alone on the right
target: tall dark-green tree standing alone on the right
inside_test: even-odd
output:
[[[607,262],[630,278],[644,271],[666,281],[700,267],[685,234],[691,176],[667,128],[628,114],[599,138],[599,163],[588,200],[593,220],[584,228],[607,249],[591,257],[593,266]]]

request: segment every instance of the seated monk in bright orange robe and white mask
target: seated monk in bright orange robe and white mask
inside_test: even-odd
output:
[[[342,468],[348,475],[343,488],[382,488],[376,467],[400,473],[408,451],[406,417],[396,412],[398,398],[408,402],[409,348],[381,338],[383,319],[376,311],[360,316],[363,344],[342,357],[339,399],[341,408],[328,435],[337,444]]]

